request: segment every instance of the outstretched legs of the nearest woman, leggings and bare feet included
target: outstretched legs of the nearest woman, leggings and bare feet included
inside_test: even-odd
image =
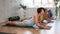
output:
[[[20,22],[20,21],[8,21],[7,24],[18,25],[18,26],[33,26],[34,20],[33,20],[33,18],[31,18],[29,20],[24,20],[22,22]]]

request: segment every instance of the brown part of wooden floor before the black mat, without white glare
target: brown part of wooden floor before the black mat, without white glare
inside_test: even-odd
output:
[[[40,30],[33,28],[19,28],[19,27],[8,27],[0,26],[0,32],[12,33],[12,34],[40,34]]]

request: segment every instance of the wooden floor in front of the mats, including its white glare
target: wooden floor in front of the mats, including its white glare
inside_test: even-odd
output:
[[[9,27],[9,26],[0,26],[0,32],[12,33],[12,34],[55,34],[55,21],[54,23],[47,24],[52,26],[50,30],[41,30],[34,28],[21,28],[21,27]],[[57,31],[57,30],[56,30]]]

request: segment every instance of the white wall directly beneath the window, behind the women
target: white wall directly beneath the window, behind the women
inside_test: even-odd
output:
[[[55,8],[49,8],[49,9],[52,10],[53,17],[55,17]],[[26,14],[24,14],[23,12],[26,12]],[[37,13],[37,8],[27,8],[26,10],[19,11],[19,14],[23,19],[33,17],[36,13]],[[26,15],[26,17],[24,15]]]

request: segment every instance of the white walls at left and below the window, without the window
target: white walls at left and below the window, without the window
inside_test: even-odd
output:
[[[0,22],[6,21],[10,16],[19,15],[21,19],[33,17],[37,13],[37,8],[19,9],[20,0],[0,0]],[[52,8],[54,12],[54,8]],[[26,12],[26,14],[24,14]],[[24,16],[26,15],[26,16]]]

